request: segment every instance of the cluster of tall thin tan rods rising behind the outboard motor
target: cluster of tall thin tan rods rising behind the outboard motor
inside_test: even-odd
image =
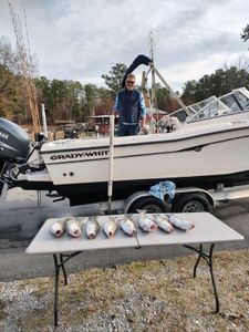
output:
[[[27,18],[25,20],[25,32],[27,32],[27,43],[22,33],[22,25],[19,15],[15,14],[13,7],[8,0],[10,13],[12,18],[12,23],[14,28],[14,34],[17,39],[17,48],[20,56],[21,71],[22,71],[22,80],[23,86],[27,93],[28,108],[32,117],[34,135],[41,132],[40,117],[39,117],[39,107],[37,101],[37,91],[35,84],[33,80],[33,64],[30,54],[29,48],[29,38],[28,38],[28,29],[27,29]]]

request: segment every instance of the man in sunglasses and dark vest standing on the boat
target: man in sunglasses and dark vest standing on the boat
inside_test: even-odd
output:
[[[118,115],[118,136],[137,135],[145,129],[146,107],[143,94],[135,89],[134,74],[127,74],[125,89],[117,93],[113,114]]]

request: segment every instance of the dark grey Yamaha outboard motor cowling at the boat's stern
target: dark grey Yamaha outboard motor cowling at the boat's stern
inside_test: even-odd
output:
[[[22,164],[30,152],[30,137],[20,126],[0,117],[0,159]]]

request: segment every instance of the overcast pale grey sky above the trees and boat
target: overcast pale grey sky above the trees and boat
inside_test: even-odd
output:
[[[10,0],[27,14],[31,53],[40,76],[104,86],[102,74],[149,55],[174,90],[224,63],[249,58],[240,33],[249,23],[248,0]],[[7,0],[0,0],[0,37],[15,44]],[[141,75],[146,66],[139,66]],[[138,82],[139,83],[139,82]]]

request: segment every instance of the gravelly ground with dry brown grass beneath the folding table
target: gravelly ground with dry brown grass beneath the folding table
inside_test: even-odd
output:
[[[0,331],[249,331],[249,250],[214,255],[220,312],[209,269],[196,256],[90,269],[60,280],[53,326],[53,278],[0,283]]]

